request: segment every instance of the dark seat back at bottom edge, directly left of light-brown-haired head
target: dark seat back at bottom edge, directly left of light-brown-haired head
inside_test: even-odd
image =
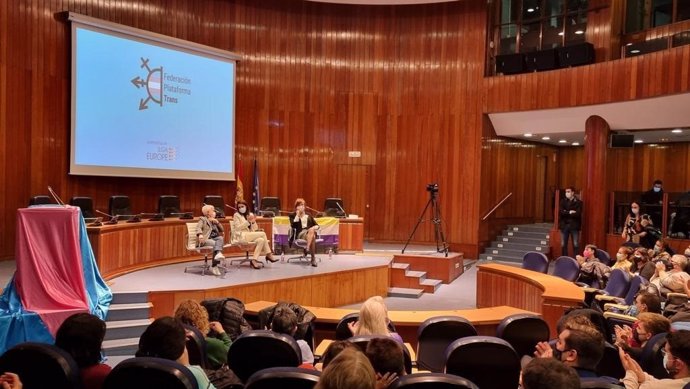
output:
[[[299,367],[271,367],[252,374],[244,389],[311,389],[321,377],[321,372]]]

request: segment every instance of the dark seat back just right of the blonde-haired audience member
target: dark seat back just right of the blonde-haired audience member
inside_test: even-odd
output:
[[[420,370],[443,372],[446,348],[455,340],[477,335],[472,323],[460,316],[430,317],[417,330],[417,366]]]

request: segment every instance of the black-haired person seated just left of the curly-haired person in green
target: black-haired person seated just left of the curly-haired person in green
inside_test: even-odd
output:
[[[170,316],[164,316],[154,320],[141,334],[136,356],[175,361],[186,366],[194,374],[198,389],[216,389],[200,366],[189,364],[185,343],[186,335],[182,323]]]

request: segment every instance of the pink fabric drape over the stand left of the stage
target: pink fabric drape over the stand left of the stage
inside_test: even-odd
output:
[[[55,336],[68,316],[89,310],[78,208],[19,209],[16,247],[15,285],[24,309],[39,314]]]

